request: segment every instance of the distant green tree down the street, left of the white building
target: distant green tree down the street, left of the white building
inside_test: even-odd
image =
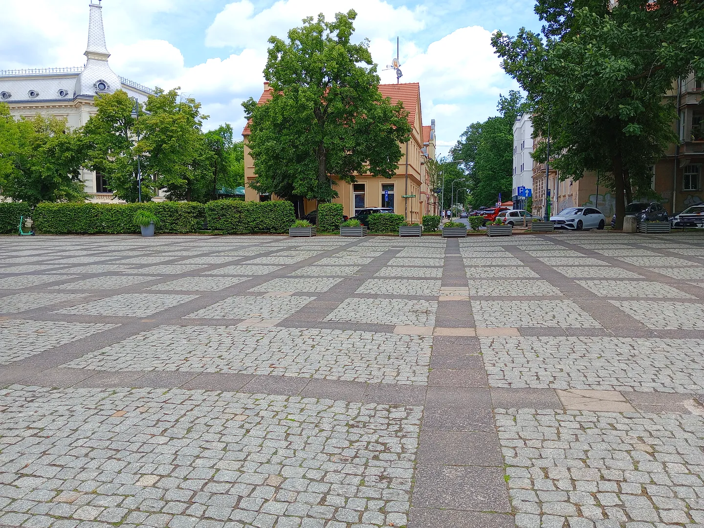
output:
[[[519,92],[500,96],[499,115],[472,123],[452,149],[467,170],[470,203],[474,207],[496,203],[511,196],[513,178],[513,123],[523,103]]]

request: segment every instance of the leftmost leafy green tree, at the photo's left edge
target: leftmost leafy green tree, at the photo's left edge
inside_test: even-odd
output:
[[[15,121],[0,105],[0,185],[16,201],[77,201],[85,197],[80,180],[82,139],[65,120],[37,115]]]

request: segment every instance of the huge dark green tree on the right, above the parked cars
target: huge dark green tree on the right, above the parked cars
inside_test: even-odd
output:
[[[676,139],[665,94],[678,77],[704,72],[701,1],[538,0],[536,13],[542,36],[522,28],[492,42],[528,93],[536,134],[549,127],[561,177],[609,175],[620,228],[647,165]],[[534,157],[546,160],[545,142]]]

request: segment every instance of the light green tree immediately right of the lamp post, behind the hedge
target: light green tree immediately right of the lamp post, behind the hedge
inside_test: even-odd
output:
[[[139,117],[139,149],[149,153],[144,160],[146,172],[156,176],[157,187],[166,189],[169,199],[203,201],[210,177],[203,182],[205,175],[196,170],[196,163],[203,148],[201,127],[208,116],[201,114],[201,103],[183,99],[179,89],[157,88],[149,96]]]

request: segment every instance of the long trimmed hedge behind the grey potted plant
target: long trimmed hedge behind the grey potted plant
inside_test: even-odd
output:
[[[159,233],[194,233],[203,229],[202,203],[39,203],[34,228],[46,234],[128,234],[139,232],[134,213],[146,209],[159,219]]]

